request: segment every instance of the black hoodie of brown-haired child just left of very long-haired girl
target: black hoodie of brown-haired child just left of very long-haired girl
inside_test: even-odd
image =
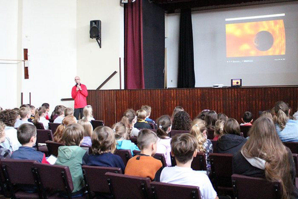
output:
[[[217,140],[217,151],[218,153],[237,153],[246,141],[246,138],[235,134],[223,135]]]

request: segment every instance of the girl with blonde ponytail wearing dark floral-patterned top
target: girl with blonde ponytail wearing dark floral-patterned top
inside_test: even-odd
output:
[[[210,140],[206,138],[206,127],[203,120],[197,120],[190,130],[190,134],[193,135],[198,144],[198,152],[205,153],[206,156],[206,166],[207,175],[211,173],[211,164],[209,159],[209,153],[213,153],[213,145]]]

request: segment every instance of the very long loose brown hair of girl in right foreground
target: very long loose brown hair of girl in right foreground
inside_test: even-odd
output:
[[[259,157],[265,160],[266,179],[281,182],[282,198],[290,198],[294,186],[288,152],[270,118],[259,117],[254,122],[250,129],[250,137],[242,147],[242,153],[245,157]]]

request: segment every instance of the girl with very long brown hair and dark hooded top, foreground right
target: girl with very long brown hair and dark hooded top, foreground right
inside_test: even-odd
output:
[[[280,182],[281,198],[298,197],[292,153],[283,145],[268,117],[259,117],[252,125],[248,141],[233,156],[233,173]]]

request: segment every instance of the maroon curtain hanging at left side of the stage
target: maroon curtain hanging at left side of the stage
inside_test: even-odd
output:
[[[125,4],[125,89],[144,89],[142,0]]]

